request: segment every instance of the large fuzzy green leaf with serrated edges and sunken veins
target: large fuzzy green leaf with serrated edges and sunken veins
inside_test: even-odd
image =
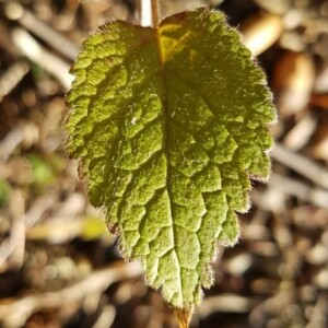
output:
[[[68,152],[117,226],[126,258],[176,308],[212,284],[216,243],[236,243],[249,176],[266,179],[276,119],[262,71],[220,12],[159,30],[110,22],[72,68]]]

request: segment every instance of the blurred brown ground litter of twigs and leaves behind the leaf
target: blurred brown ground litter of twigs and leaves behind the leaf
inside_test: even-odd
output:
[[[328,327],[327,0],[162,0],[163,15],[226,13],[267,71],[278,106],[272,177],[254,183],[242,238],[220,247],[191,327]],[[65,93],[80,45],[133,0],[0,0],[0,325],[176,327],[63,152]]]

